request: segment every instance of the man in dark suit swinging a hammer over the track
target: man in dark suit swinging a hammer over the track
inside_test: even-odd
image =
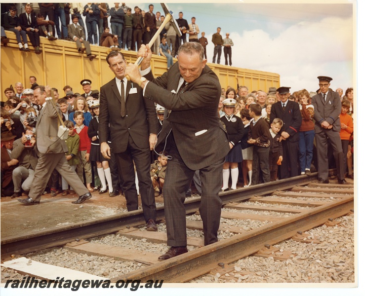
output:
[[[203,220],[204,245],[218,241],[222,205],[218,192],[222,185],[224,157],[230,146],[217,115],[221,86],[216,74],[205,65],[200,43],[181,45],[178,63],[158,78],[151,73],[151,50],[142,45],[138,55],[144,57],[143,71],[139,73],[136,66],[129,64],[127,74],[141,85],[146,98],[169,110],[156,145],[162,145],[157,151],[166,147],[171,156],[163,185],[167,245],[171,248],[159,257],[164,260],[188,252],[184,200],[196,170],[202,181],[199,212]],[[141,74],[145,76],[141,77]]]

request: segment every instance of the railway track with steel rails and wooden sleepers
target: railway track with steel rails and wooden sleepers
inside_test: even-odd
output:
[[[158,261],[158,254],[105,246],[86,240],[117,232],[119,236],[134,240],[143,239],[150,243],[165,244],[165,233],[142,231],[142,211],[47,229],[32,235],[2,238],[1,259],[64,246],[76,253],[134,261],[142,265],[138,270],[112,278],[112,282],[136,279],[142,282],[161,279],[166,283],[187,282],[212,270],[221,268],[224,271],[227,264],[261,249],[267,248],[269,253],[272,253],[270,246],[298,236],[298,231],[304,232],[328,223],[329,220],[332,221],[353,210],[353,185],[337,185],[334,181],[322,185],[315,180],[316,174],[311,177],[298,176],[222,193],[222,219],[225,222],[221,222],[220,231],[230,232],[232,236],[205,247],[202,247],[202,238],[188,237],[188,245],[195,249],[166,261]],[[194,215],[199,214],[199,201],[200,198],[186,201],[186,212],[190,214],[187,217],[188,229],[203,229],[199,215]],[[162,219],[163,207],[159,207],[158,220]],[[233,220],[242,221],[241,226],[231,226],[228,222]],[[249,229],[245,226],[247,221],[248,224],[252,221],[261,224]],[[305,237],[302,236],[301,239],[305,240]]]

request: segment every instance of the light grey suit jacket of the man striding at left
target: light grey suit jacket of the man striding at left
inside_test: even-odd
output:
[[[65,141],[57,136],[58,132],[58,115],[61,114],[58,104],[56,108],[50,100],[46,100],[46,105],[41,109],[36,125],[36,148],[41,153],[63,153],[67,152]]]

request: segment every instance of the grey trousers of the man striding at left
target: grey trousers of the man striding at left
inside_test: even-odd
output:
[[[47,181],[51,173],[56,169],[67,183],[81,196],[89,192],[80,181],[78,175],[68,164],[65,153],[39,153],[38,163],[35,169],[33,184],[28,196],[33,200],[41,200]]]

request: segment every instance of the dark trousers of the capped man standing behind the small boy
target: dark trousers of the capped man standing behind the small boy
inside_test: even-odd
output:
[[[283,161],[280,166],[280,179],[298,176],[298,141],[290,142],[286,139],[282,141],[282,145]]]

